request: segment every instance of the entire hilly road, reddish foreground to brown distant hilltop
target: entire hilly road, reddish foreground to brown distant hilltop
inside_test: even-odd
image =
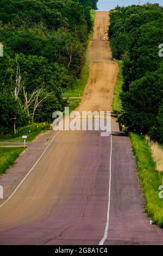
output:
[[[111,110],[118,68],[108,42],[99,40],[107,26],[108,12],[97,12],[79,111]],[[0,199],[1,245],[163,244],[163,230],[149,225],[143,213],[129,139],[114,120],[112,131],[109,137],[98,131],[52,132],[50,143],[36,142],[39,152],[29,145],[0,178],[5,187],[12,170],[22,177],[4,191],[7,203]]]

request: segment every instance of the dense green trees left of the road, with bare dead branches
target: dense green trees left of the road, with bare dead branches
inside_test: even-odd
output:
[[[1,0],[0,131],[49,121],[80,76],[97,1]]]

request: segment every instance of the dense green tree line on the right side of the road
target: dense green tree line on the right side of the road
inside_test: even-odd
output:
[[[123,59],[122,123],[163,142],[163,8],[117,7],[110,14],[113,56]]]

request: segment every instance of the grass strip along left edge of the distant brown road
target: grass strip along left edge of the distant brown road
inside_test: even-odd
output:
[[[95,10],[91,10],[91,17],[92,20],[95,20]],[[93,31],[90,34],[89,41],[93,38]],[[73,87],[68,88],[64,93],[63,97],[82,97],[84,88],[87,84],[89,78],[89,66],[90,66],[90,59],[89,59],[89,42],[87,44],[86,56],[85,56],[85,64],[83,70],[81,72],[80,78],[74,82]],[[70,106],[70,112],[76,109],[76,107],[80,104],[81,99],[69,99],[68,103]]]

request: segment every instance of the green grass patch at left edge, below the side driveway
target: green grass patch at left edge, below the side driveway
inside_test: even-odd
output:
[[[24,148],[0,148],[0,175],[11,167]]]

